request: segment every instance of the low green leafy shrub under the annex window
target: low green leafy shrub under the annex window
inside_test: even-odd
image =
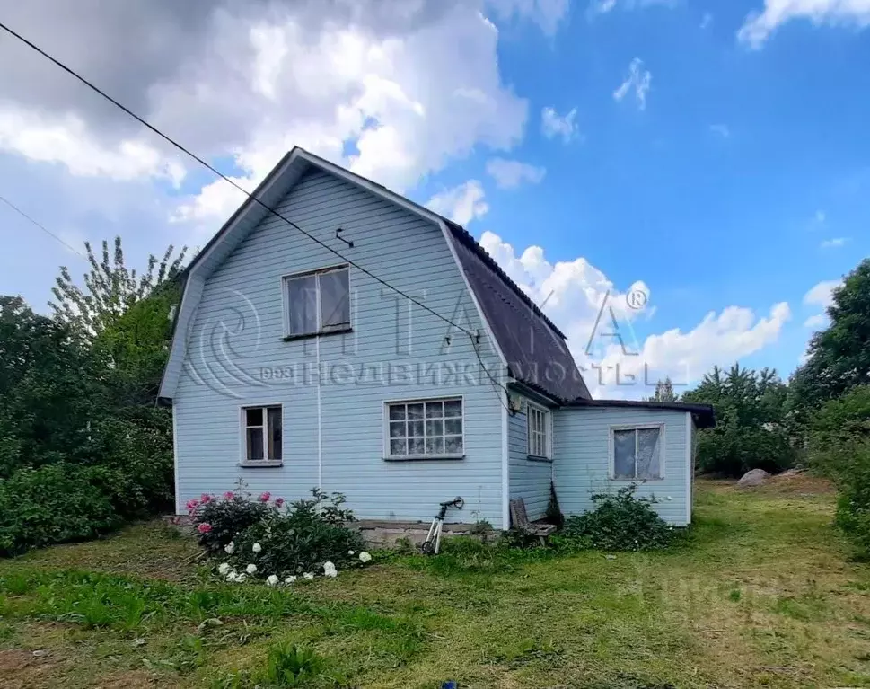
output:
[[[595,508],[568,517],[554,544],[565,550],[609,551],[645,551],[672,545],[681,531],[655,513],[653,499],[636,498],[635,490],[631,485],[615,494],[593,495]]]

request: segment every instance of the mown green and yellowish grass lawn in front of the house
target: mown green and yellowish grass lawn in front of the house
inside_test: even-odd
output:
[[[216,583],[133,526],[0,561],[0,686],[243,687],[295,643],[312,686],[870,687],[870,566],[833,506],[813,480],[699,481],[672,552],[393,557],[292,589]]]

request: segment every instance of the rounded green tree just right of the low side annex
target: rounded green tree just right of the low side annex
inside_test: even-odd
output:
[[[699,432],[702,471],[739,476],[750,469],[778,471],[794,463],[795,453],[783,423],[787,387],[777,372],[756,372],[734,364],[719,367],[683,395],[684,402],[712,404],[716,428]]]

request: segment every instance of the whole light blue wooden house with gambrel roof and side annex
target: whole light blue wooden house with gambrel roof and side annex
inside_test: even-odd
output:
[[[459,225],[294,148],[186,271],[161,396],[176,508],[339,491],[361,519],[510,522],[637,483],[691,520],[703,405],[590,398],[565,336]]]

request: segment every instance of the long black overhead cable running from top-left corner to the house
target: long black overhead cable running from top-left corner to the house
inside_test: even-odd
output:
[[[419,306],[420,308],[422,308],[422,309],[424,309],[425,311],[429,312],[430,314],[433,314],[433,315],[437,316],[437,317],[440,318],[442,321],[444,321],[444,322],[446,322],[446,323],[452,325],[452,326],[453,326],[454,328],[456,328],[457,330],[460,330],[460,331],[462,331],[462,332],[464,332],[464,333],[466,333],[467,335],[470,335],[470,336],[472,336],[472,337],[474,336],[474,334],[473,334],[472,332],[465,330],[465,329],[462,328],[461,326],[459,326],[459,325],[457,325],[456,323],[454,323],[453,321],[451,321],[449,318],[443,316],[442,314],[439,314],[437,311],[435,311],[435,309],[431,308],[430,306],[427,306],[427,305],[423,304],[423,303],[420,302],[420,301],[417,301],[417,299],[415,299],[414,297],[410,296],[409,294],[406,294],[406,293],[403,292],[399,287],[394,287],[394,286],[392,286],[389,282],[387,282],[386,280],[383,280],[382,278],[378,278],[378,277],[377,277],[376,275],[374,275],[370,270],[363,268],[361,265],[359,265],[359,264],[356,263],[355,261],[351,261],[351,260],[348,259],[346,256],[344,256],[341,252],[338,252],[338,251],[336,251],[335,249],[333,249],[329,244],[324,243],[324,242],[321,242],[320,239],[318,239],[317,237],[315,237],[313,234],[308,233],[308,232],[306,232],[305,230],[303,230],[302,227],[300,227],[299,225],[296,225],[296,224],[295,224],[292,220],[290,220],[288,217],[282,215],[281,213],[278,213],[277,210],[275,210],[275,208],[271,208],[271,207],[267,206],[267,205],[266,205],[265,203],[263,203],[260,199],[257,199],[253,194],[251,194],[248,190],[245,190],[245,189],[244,189],[240,184],[238,184],[237,182],[235,182],[235,181],[233,181],[232,179],[230,179],[229,177],[227,177],[223,172],[220,172],[219,170],[217,170],[213,165],[211,165],[210,163],[207,163],[205,160],[203,160],[202,158],[200,158],[198,155],[196,155],[195,153],[191,152],[188,148],[185,148],[184,146],[181,146],[181,144],[179,144],[177,141],[175,141],[175,139],[171,138],[169,135],[167,135],[167,134],[163,134],[163,132],[162,132],[160,129],[154,127],[154,125],[151,124],[150,122],[148,122],[146,119],[144,119],[144,118],[140,117],[139,115],[137,115],[136,112],[134,112],[133,110],[130,110],[129,108],[127,108],[127,106],[124,105],[123,103],[121,103],[121,102],[115,100],[114,98],[112,98],[108,93],[102,91],[101,88],[99,88],[98,86],[92,84],[90,81],[88,81],[88,80],[87,80],[86,78],[84,78],[82,75],[79,75],[77,72],[75,72],[75,70],[74,70],[72,67],[68,67],[68,66],[66,66],[63,62],[61,62],[60,60],[58,60],[56,57],[53,57],[53,56],[49,55],[45,50],[41,49],[38,45],[36,45],[35,43],[33,43],[31,40],[27,40],[27,39],[25,39],[25,38],[24,38],[20,33],[16,32],[16,31],[13,31],[13,30],[10,29],[8,26],[6,26],[3,22],[0,22],[0,29],[3,29],[4,31],[6,31],[6,32],[9,33],[10,35],[14,36],[16,39],[22,41],[22,43],[24,43],[25,45],[27,45],[27,46],[30,47],[31,49],[35,50],[36,52],[38,52],[42,57],[45,57],[46,59],[48,59],[48,61],[54,63],[56,66],[58,66],[58,67],[60,67],[61,69],[63,69],[63,70],[66,72],[66,74],[73,76],[75,79],[77,79],[77,80],[80,81],[82,84],[84,84],[85,86],[87,86],[87,87],[88,87],[89,89],[91,89],[93,92],[95,92],[95,93],[99,93],[103,98],[105,98],[107,101],[109,101],[110,103],[112,103],[114,106],[116,106],[116,107],[119,108],[120,110],[123,110],[124,112],[126,112],[127,115],[129,115],[131,118],[136,119],[136,121],[137,121],[139,124],[141,124],[143,127],[150,129],[150,130],[153,131],[154,134],[156,134],[158,137],[161,137],[164,141],[166,141],[167,143],[169,143],[171,146],[174,146],[175,148],[179,149],[179,150],[180,150],[182,153],[184,153],[185,155],[188,155],[190,158],[192,158],[193,160],[195,160],[197,163],[199,163],[200,165],[202,165],[203,167],[205,167],[208,171],[213,172],[215,175],[217,175],[218,177],[220,177],[222,180],[228,182],[229,184],[232,184],[233,187],[235,187],[237,190],[241,191],[242,194],[244,194],[246,197],[248,197],[248,199],[253,200],[253,201],[255,201],[256,203],[258,203],[260,206],[262,206],[263,208],[265,208],[265,209],[267,210],[268,213],[271,213],[273,216],[276,216],[276,217],[280,218],[281,220],[283,220],[284,222],[286,222],[287,225],[290,225],[290,226],[293,227],[295,230],[301,232],[301,233],[304,234],[306,237],[308,237],[309,239],[311,239],[312,242],[315,242],[315,243],[320,244],[324,249],[326,249],[327,251],[329,251],[329,252],[335,254],[336,256],[338,256],[339,259],[341,259],[342,261],[347,262],[349,265],[354,266],[354,268],[356,268],[357,270],[359,270],[359,271],[365,273],[365,275],[367,275],[369,278],[373,278],[373,280],[376,280],[377,282],[381,283],[384,287],[389,287],[391,290],[393,290],[394,292],[396,292],[396,294],[398,294],[398,295],[400,295],[400,296],[403,296],[404,298],[408,299],[408,300],[409,300],[410,302],[412,302],[413,304],[416,304],[417,306]],[[43,228],[43,229],[44,229],[44,228]],[[48,230],[46,230],[46,231],[48,232]],[[49,233],[49,234],[50,234],[50,233]]]

